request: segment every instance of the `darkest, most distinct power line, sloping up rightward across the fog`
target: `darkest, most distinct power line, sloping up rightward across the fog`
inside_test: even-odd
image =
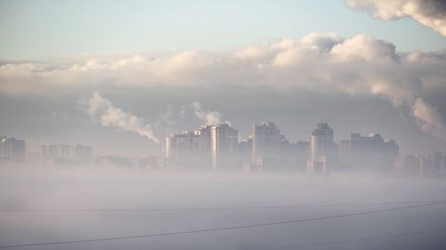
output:
[[[370,211],[351,213],[351,214],[336,214],[336,215],[328,215],[328,216],[321,216],[321,217],[312,217],[312,218],[293,220],[293,221],[266,222],[266,223],[246,224],[246,225],[233,226],[233,227],[211,228],[211,229],[202,229],[202,230],[182,230],[182,231],[173,231],[173,232],[146,234],[146,235],[124,236],[124,237],[89,238],[89,239],[78,239],[78,240],[67,240],[67,241],[5,245],[5,246],[0,246],[0,248],[26,247],[26,246],[50,246],[50,245],[99,242],[99,241],[131,239],[131,238],[153,238],[153,237],[161,237],[161,236],[192,234],[192,233],[221,231],[221,230],[241,230],[241,229],[248,229],[248,228],[267,227],[267,226],[273,226],[273,225],[283,225],[283,224],[291,224],[291,223],[298,223],[298,222],[313,222],[313,221],[343,218],[343,217],[350,217],[350,216],[359,216],[359,215],[365,215],[365,214],[378,214],[378,213],[385,213],[385,212],[399,211],[399,210],[404,210],[404,209],[417,208],[417,207],[422,207],[422,206],[434,206],[434,205],[440,205],[440,204],[444,204],[444,203],[446,203],[446,201],[434,202],[434,203],[428,203],[428,204],[422,204],[422,205],[414,205],[414,206],[399,206],[399,207],[393,207],[393,208],[377,209],[377,210],[370,210]]]

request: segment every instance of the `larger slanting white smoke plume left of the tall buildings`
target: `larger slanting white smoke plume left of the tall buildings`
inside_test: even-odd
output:
[[[88,114],[91,117],[98,116],[101,125],[119,127],[160,143],[155,133],[153,133],[152,126],[146,124],[144,118],[136,117],[113,107],[111,101],[104,99],[97,92],[93,93],[93,97],[88,101]]]

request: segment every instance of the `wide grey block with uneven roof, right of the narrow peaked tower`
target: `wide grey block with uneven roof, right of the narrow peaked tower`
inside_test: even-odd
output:
[[[341,141],[339,162],[352,169],[365,171],[392,171],[399,156],[395,141],[384,141],[378,133],[362,136],[351,133],[351,140]],[[409,159],[407,159],[409,161]]]

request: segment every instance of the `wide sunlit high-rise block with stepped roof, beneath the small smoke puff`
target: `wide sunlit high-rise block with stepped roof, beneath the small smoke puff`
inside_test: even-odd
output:
[[[236,164],[238,131],[229,123],[203,125],[166,138],[168,165],[188,169],[223,169]]]

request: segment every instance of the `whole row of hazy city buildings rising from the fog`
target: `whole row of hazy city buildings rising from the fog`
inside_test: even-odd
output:
[[[196,105],[195,105],[196,106]],[[215,121],[214,119],[208,119]],[[202,125],[196,130],[171,133],[155,155],[131,159],[125,155],[93,154],[80,144],[41,144],[27,152],[25,140],[0,136],[0,165],[114,166],[140,169],[266,173],[386,173],[441,177],[446,155],[401,154],[396,141],[379,133],[351,133],[350,140],[334,140],[334,129],[318,123],[309,141],[290,142],[273,122],[252,124],[252,133],[240,136],[230,122]],[[156,138],[155,138],[156,139]]]

